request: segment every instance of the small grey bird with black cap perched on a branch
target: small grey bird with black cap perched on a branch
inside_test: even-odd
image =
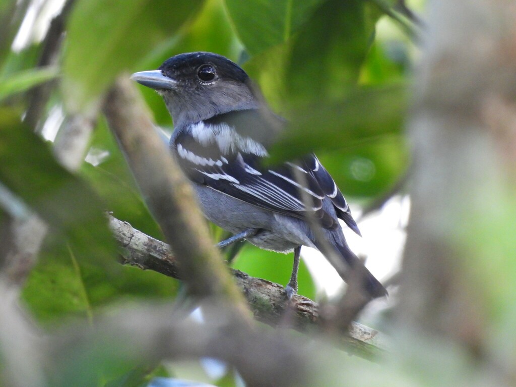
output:
[[[233,234],[220,247],[247,240],[265,250],[294,251],[288,299],[298,291],[301,246],[321,251],[344,281],[360,276],[369,299],[386,296],[350,250],[338,220],[358,235],[360,230],[315,154],[280,165],[266,162],[288,122],[272,112],[240,66],[219,54],[191,52],[131,78],[163,97],[173,120],[169,147],[175,160],[204,216]]]

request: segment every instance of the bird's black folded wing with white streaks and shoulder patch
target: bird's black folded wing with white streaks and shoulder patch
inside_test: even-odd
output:
[[[322,200],[329,197],[338,218],[360,235],[344,196],[314,155],[272,168],[261,165],[267,150],[250,135],[259,133],[263,138],[268,128],[258,111],[233,112],[182,129],[171,145],[192,181],[300,219],[307,210],[313,211],[323,227],[333,229],[337,220],[322,208]]]

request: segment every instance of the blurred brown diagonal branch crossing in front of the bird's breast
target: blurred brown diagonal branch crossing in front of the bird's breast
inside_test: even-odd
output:
[[[108,92],[103,110],[149,209],[174,247],[190,294],[229,302],[235,318],[250,322],[249,309],[209,238],[191,187],[127,75]]]

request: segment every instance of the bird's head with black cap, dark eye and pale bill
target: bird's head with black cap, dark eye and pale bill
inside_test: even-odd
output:
[[[176,126],[259,106],[246,72],[218,54],[176,55],[157,70],[137,72],[131,78],[163,96]]]

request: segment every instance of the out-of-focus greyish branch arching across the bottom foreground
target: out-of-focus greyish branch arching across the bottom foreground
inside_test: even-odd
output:
[[[146,364],[210,357],[235,366],[248,386],[315,382],[317,360],[308,357],[302,340],[281,331],[235,329],[231,313],[220,304],[201,302],[198,312],[192,316],[170,305],[133,306],[100,319],[93,330],[76,324],[56,332],[48,342],[53,371],[62,378],[66,365],[68,381],[80,376],[82,385],[95,385],[99,370],[89,367],[90,361],[102,364],[115,357]],[[83,357],[73,358],[75,353]],[[70,385],[67,380],[53,385]]]

